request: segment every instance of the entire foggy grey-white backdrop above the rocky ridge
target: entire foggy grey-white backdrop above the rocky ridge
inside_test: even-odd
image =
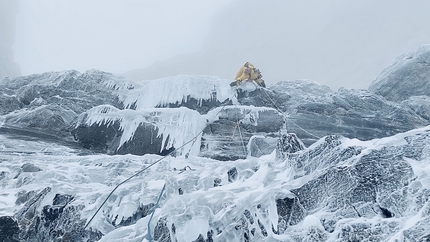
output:
[[[96,68],[136,80],[233,79],[250,61],[268,84],[367,88],[394,58],[430,43],[427,0],[0,0],[0,7],[0,38],[13,43],[23,75]]]

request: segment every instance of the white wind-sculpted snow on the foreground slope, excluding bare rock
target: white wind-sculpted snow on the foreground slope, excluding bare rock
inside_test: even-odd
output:
[[[110,112],[117,111],[111,107],[103,110],[105,113],[98,113],[109,115]],[[92,121],[96,122],[95,120]],[[378,149],[382,143],[396,144],[402,142],[407,135],[418,134],[428,129],[429,127],[426,127],[372,141],[344,138],[342,142],[346,146],[359,145],[368,149]],[[22,175],[19,179],[1,180],[3,189],[0,193],[0,216],[12,215],[22,208],[23,204],[15,204],[19,191],[51,187],[52,192],[45,197],[42,206],[51,204],[53,196],[57,193],[71,194],[75,196],[71,204],[85,204],[86,207],[82,210],[81,216],[88,221],[106,199],[107,194],[112,191],[113,186],[161,158],[157,155],[82,156],[76,150],[38,140],[21,141],[4,135],[0,135],[0,140],[0,159],[2,160],[0,172],[5,172],[8,178],[16,176],[19,168],[25,163],[32,163],[41,169],[39,172],[25,174],[31,179],[30,183],[20,183]],[[429,145],[425,149],[430,150]],[[429,156],[428,152],[425,154]],[[274,200],[292,197],[289,190],[304,184],[308,178],[293,179],[294,169],[286,162],[276,162],[274,156],[270,154],[258,159],[248,157],[244,160],[222,163],[197,156],[190,156],[188,159],[165,157],[147,171],[120,186],[89,226],[105,234],[100,241],[121,241],[125,238],[128,241],[145,241],[149,216],[138,220],[135,224],[118,229],[114,229],[109,221],[115,221],[118,224],[121,219],[130,217],[139,206],[155,203],[163,185],[166,184],[166,191],[159,204],[160,208],[156,209],[151,222],[151,231],[154,231],[156,221],[167,216],[169,224],[174,223],[176,231],[181,231],[176,234],[178,241],[192,241],[199,234],[206,236],[209,226],[214,224],[224,231],[218,237],[214,235],[217,241],[235,241],[236,229],[229,226],[223,227],[223,225],[231,224],[247,209],[250,209],[249,212],[255,214],[255,218],[266,228],[272,226],[276,228],[278,215]],[[428,158],[423,157],[422,162],[408,160],[413,166],[417,179],[427,187],[430,183],[430,165],[425,160],[428,161]],[[192,169],[180,171],[187,166]],[[237,168],[238,176],[235,181],[228,182],[227,171],[233,167]],[[255,170],[255,167],[258,167],[258,170]],[[215,178],[222,180],[221,186],[213,186]],[[178,193],[179,188],[183,191],[182,195]],[[267,210],[260,209],[258,205]],[[428,209],[427,206],[424,206],[418,214],[403,221],[404,229],[424,219],[426,209]],[[297,226],[305,231],[313,228],[324,231],[320,215],[309,214]],[[348,221],[350,220],[344,219],[339,223],[348,223]],[[379,220],[375,218],[374,221],[376,223]],[[240,223],[236,221],[236,224]],[[259,229],[255,221],[253,224],[248,222],[248,225]],[[273,234],[271,230],[267,230],[267,233],[269,238],[275,240],[288,237]],[[400,234],[393,238],[401,238],[399,236]]]

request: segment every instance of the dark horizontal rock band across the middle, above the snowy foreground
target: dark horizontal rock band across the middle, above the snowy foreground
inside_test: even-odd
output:
[[[410,82],[414,80],[411,79]],[[417,81],[418,84],[421,82],[422,80]],[[429,102],[423,101],[428,96],[421,96],[420,100],[414,97],[415,99],[408,99],[404,103],[393,103],[373,92],[347,89],[333,92],[326,86],[305,81],[283,81],[269,89],[246,83],[231,89],[222,80],[208,76],[182,75],[138,84],[97,70],[83,74],[66,71],[5,79],[0,87],[4,93],[0,97],[0,112],[3,115],[0,129],[3,132],[77,142],[84,148],[108,154],[165,154],[180,146],[178,142],[183,140],[173,137],[174,134],[162,133],[166,124],[157,123],[156,115],[149,118],[151,114],[148,114],[148,110],[151,108],[157,108],[155,113],[161,113],[161,116],[169,116],[171,110],[180,108],[189,110],[187,112],[197,111],[201,117],[192,115],[200,123],[187,121],[194,125],[188,128],[187,137],[190,138],[201,131],[199,128],[206,126],[205,119],[212,120],[213,117],[208,116],[209,111],[216,108],[240,105],[271,108],[278,112],[273,121],[270,118],[264,119],[266,114],[260,115],[257,127],[259,131],[255,134],[252,132],[256,127],[245,127],[240,120],[239,126],[235,125],[237,117],[230,115],[228,122],[215,119],[215,123],[206,128],[196,145],[202,145],[200,152],[204,156],[222,160],[233,156],[234,159],[243,158],[249,152],[255,154],[255,150],[243,151],[243,146],[248,146],[252,135],[269,137],[264,141],[267,151],[263,152],[269,153],[276,146],[276,142],[270,141],[270,137],[276,136],[274,133],[280,130],[282,122],[282,128],[295,133],[309,146],[325,135],[336,134],[369,140],[422,127],[429,121],[430,109]],[[158,92],[166,94],[156,95]],[[105,105],[110,105],[115,111],[105,114],[105,120],[95,122],[103,112],[97,113],[94,109],[102,110]],[[131,128],[121,121],[124,115],[134,117],[134,120],[140,115],[148,118],[144,118],[145,122],[140,120],[138,125],[131,125]],[[87,122],[88,120],[94,122]],[[124,133],[126,126],[132,129],[129,133]],[[214,127],[218,127],[217,131],[210,134],[212,131],[209,129]],[[221,133],[225,137],[238,138],[233,134],[235,127],[247,134],[240,142],[230,142],[235,144],[227,148],[231,152],[225,152],[227,150],[223,147],[215,147],[213,137]],[[183,135],[184,132],[177,135]],[[226,140],[221,143],[224,141]],[[209,145],[207,142],[212,143]],[[269,149],[267,145],[270,146]],[[208,155],[208,149],[224,154]]]

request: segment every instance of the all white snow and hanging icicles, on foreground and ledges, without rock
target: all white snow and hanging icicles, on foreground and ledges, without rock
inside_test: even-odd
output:
[[[223,115],[229,115],[228,112],[221,111],[238,109],[245,117],[242,119],[244,124],[256,125],[261,111],[274,109],[231,105],[214,108],[201,115],[185,107],[159,108],[168,103],[186,102],[188,97],[195,98],[200,105],[203,100],[211,98],[219,102],[234,99],[234,92],[228,82],[212,76],[179,75],[122,84],[118,79],[109,79],[104,85],[113,88],[129,109],[120,110],[111,105],[101,105],[81,115],[80,124],[112,125],[118,122],[123,131],[120,145],[133,138],[139,125],[153,125],[157,136],[163,136],[161,147],[178,147],[188,142],[183,149],[191,149],[191,156],[83,155],[79,149],[36,138],[0,134],[0,178],[3,177],[0,179],[0,216],[12,216],[23,208],[25,202],[16,202],[20,193],[41,191],[49,187],[51,192],[44,197],[40,207],[52,205],[56,194],[69,194],[74,197],[70,206],[84,205],[80,211],[81,219],[89,222],[113,189],[127,180],[112,193],[103,209],[89,223],[89,228],[104,234],[100,241],[147,241],[148,223],[153,233],[157,221],[163,218],[168,218],[166,226],[169,229],[172,224],[175,225],[178,232],[171,236],[175,236],[177,241],[193,241],[200,234],[207,237],[209,228],[223,231],[214,233],[215,241],[237,241],[238,234],[243,234],[241,229],[244,223],[247,223],[248,229],[257,231],[261,230],[259,224],[262,224],[267,230],[267,238],[260,239],[267,241],[291,240],[290,234],[292,236],[297,231],[301,231],[300,234],[315,230],[325,231],[321,222],[324,211],[311,211],[306,214],[302,222],[288,228],[291,232],[288,235],[277,235],[271,228],[276,229],[279,225],[276,199],[294,198],[291,189],[317,178],[332,168],[329,166],[333,164],[321,162],[315,170],[304,175],[303,171],[296,169],[288,161],[277,161],[275,151],[259,158],[248,156],[246,159],[225,162],[198,156],[201,131],[208,123],[225,118]],[[252,86],[248,85],[246,88],[252,89]],[[213,91],[216,91],[216,96]],[[131,95],[123,95],[130,92]],[[135,109],[131,109],[132,106]],[[362,152],[359,157],[387,146],[400,147],[407,144],[407,137],[428,132],[429,129],[430,126],[427,126],[368,141],[341,138],[340,148],[360,147]],[[169,141],[167,137],[170,137]],[[195,137],[197,141],[193,145],[190,141]],[[302,152],[315,149],[323,142],[324,138],[321,138]],[[415,160],[405,157],[404,160],[411,165],[416,181],[421,184],[421,187],[416,189],[423,190],[430,187],[430,144],[423,146],[420,158]],[[357,157],[335,165],[351,165],[350,163],[356,160]],[[304,161],[306,162],[308,161]],[[21,167],[24,164],[32,164],[40,168],[40,171],[23,172]],[[233,168],[237,169],[237,177],[229,181],[228,172]],[[135,176],[137,172],[139,175]],[[135,177],[128,180],[132,176]],[[215,179],[219,179],[219,186],[214,186]],[[139,207],[154,204],[164,185],[166,190],[151,221],[150,216],[145,216],[131,225],[120,228],[113,225],[133,216]],[[413,204],[414,201],[408,203]],[[410,206],[411,211],[406,211],[401,221],[392,218],[401,224],[401,230],[392,237],[392,241],[402,240],[402,231],[416,226],[428,217],[428,203],[422,207]],[[412,211],[414,209],[418,212]],[[246,216],[248,213],[251,214],[252,221]],[[342,225],[360,221],[377,224],[382,219],[378,216],[372,219],[345,218],[338,221],[336,226],[340,228]],[[338,228],[330,235],[333,240],[336,240],[336,236],[341,232]]]

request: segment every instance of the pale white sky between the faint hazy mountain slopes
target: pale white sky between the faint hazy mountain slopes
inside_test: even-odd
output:
[[[202,47],[227,0],[21,0],[15,56],[23,74],[125,72]],[[206,26],[206,28],[205,28]]]

